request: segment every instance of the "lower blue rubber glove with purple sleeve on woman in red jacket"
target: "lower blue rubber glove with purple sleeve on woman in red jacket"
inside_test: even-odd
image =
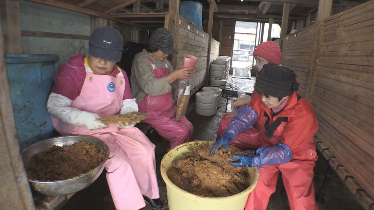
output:
[[[292,159],[292,150],[287,145],[277,143],[275,146],[263,146],[256,150],[256,155],[231,155],[237,162],[229,162],[233,167],[249,166],[261,168],[263,165],[288,163]]]

